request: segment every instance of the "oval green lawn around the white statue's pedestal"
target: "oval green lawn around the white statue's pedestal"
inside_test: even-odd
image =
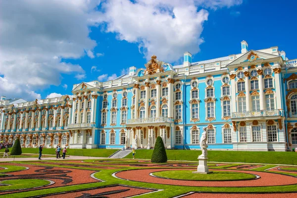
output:
[[[152,173],[157,177],[164,177],[178,180],[197,180],[197,181],[230,181],[254,179],[256,176],[247,173],[213,171],[211,174],[193,173],[193,170],[168,170]]]

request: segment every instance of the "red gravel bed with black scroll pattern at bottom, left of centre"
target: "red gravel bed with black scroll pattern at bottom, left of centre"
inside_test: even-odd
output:
[[[52,196],[47,196],[45,198],[77,198],[77,197],[83,196],[84,194],[96,195],[99,193],[116,191],[116,190],[126,190],[126,189],[128,189],[128,191],[120,192],[120,193],[115,192],[115,194],[104,195],[104,196],[101,195],[98,197],[126,198],[126,197],[132,197],[132,196],[141,195],[144,193],[153,192],[153,190],[149,190],[149,189],[140,189],[140,188],[126,187],[126,186],[114,186],[114,187],[98,188],[94,190],[80,191],[80,192],[67,193],[67,194],[61,194],[61,195],[52,195]]]

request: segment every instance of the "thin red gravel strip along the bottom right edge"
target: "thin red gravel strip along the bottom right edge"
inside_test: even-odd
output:
[[[212,194],[212,193],[194,193],[183,196],[182,198],[296,198],[297,193],[279,193],[279,194]]]

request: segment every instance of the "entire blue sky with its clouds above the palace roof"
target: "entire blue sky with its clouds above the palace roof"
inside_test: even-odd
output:
[[[0,36],[15,41],[19,31],[24,37],[9,46],[0,41],[1,95],[44,99],[71,94],[73,84],[106,81],[130,66],[144,67],[152,53],[178,64],[188,50],[193,61],[199,61],[240,53],[242,40],[249,49],[278,46],[289,59],[297,58],[294,1],[164,0],[163,5],[155,0],[66,1],[0,6],[0,22],[17,27],[5,28]],[[12,18],[11,9],[19,17]],[[25,20],[28,13],[31,18]],[[23,42],[28,38],[35,39]],[[23,79],[17,83],[18,75]]]

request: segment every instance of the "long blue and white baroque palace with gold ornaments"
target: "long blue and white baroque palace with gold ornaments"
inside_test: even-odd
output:
[[[297,147],[297,59],[278,47],[172,66],[155,55],[108,82],[75,84],[71,95],[0,100],[0,140],[22,147],[199,149]]]

